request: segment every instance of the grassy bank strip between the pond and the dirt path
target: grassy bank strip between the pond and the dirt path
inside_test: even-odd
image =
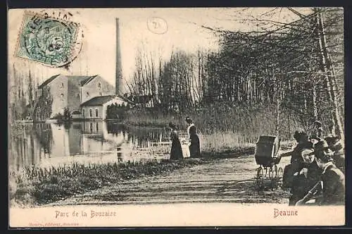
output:
[[[17,206],[47,204],[105,185],[160,175],[179,168],[206,164],[211,160],[153,160],[144,163],[69,164],[47,169],[25,168],[23,173],[10,175],[10,199]]]

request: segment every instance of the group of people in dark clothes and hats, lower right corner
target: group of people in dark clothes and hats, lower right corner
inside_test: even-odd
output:
[[[345,157],[339,137],[294,133],[298,142],[291,164],[284,168],[283,187],[291,189],[289,205],[303,205],[315,199],[318,205],[345,202]]]

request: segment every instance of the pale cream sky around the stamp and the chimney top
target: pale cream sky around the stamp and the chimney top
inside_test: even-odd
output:
[[[310,8],[295,8],[310,13]],[[14,56],[25,11],[48,13],[70,12],[68,20],[80,23],[83,35],[82,51],[69,69],[49,68],[41,63]],[[142,48],[153,56],[170,58],[172,49],[189,53],[197,49],[216,50],[218,37],[201,25],[233,31],[252,31],[258,27],[254,18],[279,22],[298,19],[287,8],[65,8],[11,9],[8,11],[8,66],[21,73],[29,70],[39,84],[51,75],[101,75],[115,85],[115,18],[120,21],[122,76],[128,82],[134,71],[135,52]],[[162,18],[163,34],[149,30],[151,18]],[[247,21],[248,20],[248,21]],[[149,24],[150,25],[150,24]]]

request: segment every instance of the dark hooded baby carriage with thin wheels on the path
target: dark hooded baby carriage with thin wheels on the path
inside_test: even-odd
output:
[[[269,187],[272,189],[282,186],[283,170],[277,167],[281,160],[281,156],[277,154],[279,144],[279,138],[272,135],[261,135],[256,142],[254,156],[259,167],[256,170],[254,181],[258,189],[263,189],[266,182],[269,182]]]

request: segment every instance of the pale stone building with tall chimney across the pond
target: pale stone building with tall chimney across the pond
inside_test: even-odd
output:
[[[39,86],[39,95],[44,89],[49,89],[53,97],[51,116],[61,113],[68,108],[73,118],[106,118],[106,108],[111,104],[133,104],[122,97],[122,66],[120,53],[119,19],[116,23],[116,65],[115,87],[103,80],[99,75],[53,75]],[[81,109],[82,107],[82,109]],[[84,111],[84,113],[82,113]]]

